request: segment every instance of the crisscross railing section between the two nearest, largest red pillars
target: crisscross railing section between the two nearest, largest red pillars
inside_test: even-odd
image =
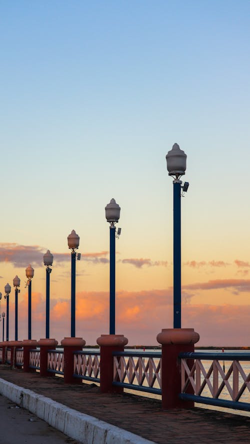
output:
[[[114,352],[113,385],[161,395],[161,352]]]

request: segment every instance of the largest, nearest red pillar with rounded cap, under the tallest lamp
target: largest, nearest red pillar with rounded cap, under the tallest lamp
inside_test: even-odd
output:
[[[162,409],[191,409],[193,401],[180,400],[180,352],[193,352],[199,335],[193,329],[162,329],[157,335],[161,348],[161,399]]]

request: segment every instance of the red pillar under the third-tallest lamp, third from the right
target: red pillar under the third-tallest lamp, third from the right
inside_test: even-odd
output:
[[[86,342],[82,338],[64,338],[63,347],[63,380],[65,384],[81,384],[82,380],[74,378],[74,352],[82,350]]]

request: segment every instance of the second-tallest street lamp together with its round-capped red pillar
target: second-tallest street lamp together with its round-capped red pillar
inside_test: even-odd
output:
[[[124,335],[115,334],[115,223],[120,217],[120,207],[111,199],[105,206],[105,216],[109,223],[109,335],[101,335],[96,342],[100,346],[100,391],[102,393],[123,392],[122,387],[113,386],[113,352],[124,351],[128,340]],[[117,235],[120,234],[118,228]]]

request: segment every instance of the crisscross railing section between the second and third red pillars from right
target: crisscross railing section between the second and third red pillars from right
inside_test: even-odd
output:
[[[86,381],[99,382],[100,378],[99,352],[74,352],[74,377]]]

